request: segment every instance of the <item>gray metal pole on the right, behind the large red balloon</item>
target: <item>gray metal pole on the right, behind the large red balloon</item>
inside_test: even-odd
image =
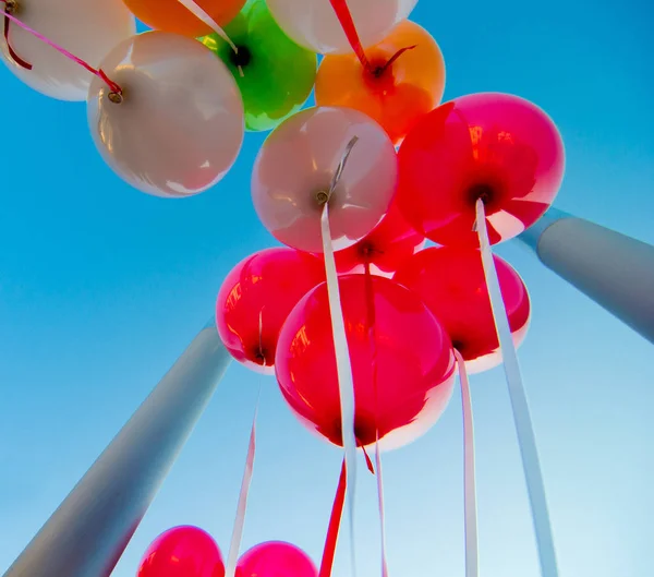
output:
[[[654,247],[555,208],[518,239],[545,266],[654,342]]]

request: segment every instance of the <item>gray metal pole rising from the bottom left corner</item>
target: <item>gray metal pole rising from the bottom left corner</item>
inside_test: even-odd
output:
[[[211,321],[4,577],[108,577],[229,362]]]

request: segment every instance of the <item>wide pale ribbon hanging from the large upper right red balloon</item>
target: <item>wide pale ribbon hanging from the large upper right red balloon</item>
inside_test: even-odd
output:
[[[486,215],[483,200],[476,202],[476,230],[480,239],[482,252],[482,263],[488,286],[488,296],[495,318],[495,328],[499,340],[499,347],[504,359],[505,374],[509,388],[509,396],[513,410],[513,421],[518,434],[518,444],[522,455],[522,468],[526,481],[526,489],[532,509],[532,518],[536,534],[536,544],[538,548],[538,558],[541,563],[541,574],[543,577],[557,577],[558,568],[556,562],[556,551],[554,538],[552,534],[552,525],[549,522],[549,513],[547,510],[547,500],[545,497],[545,486],[543,483],[543,473],[538,460],[536,440],[533,424],[529,411],[526,393],[522,382],[520,364],[516,345],[511,336],[511,328],[507,317],[507,311],[499,288],[497,269],[493,260],[491,242],[488,240],[488,230],[486,228]]]

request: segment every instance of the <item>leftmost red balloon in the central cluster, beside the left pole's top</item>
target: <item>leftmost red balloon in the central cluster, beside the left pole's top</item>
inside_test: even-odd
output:
[[[323,262],[293,249],[266,249],[241,261],[227,275],[216,302],[218,333],[232,357],[274,374],[281,326],[300,299],[324,281]]]

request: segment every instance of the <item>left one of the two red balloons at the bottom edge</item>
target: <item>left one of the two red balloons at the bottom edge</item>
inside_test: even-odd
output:
[[[220,549],[197,527],[173,527],[153,541],[138,577],[225,577]]]

